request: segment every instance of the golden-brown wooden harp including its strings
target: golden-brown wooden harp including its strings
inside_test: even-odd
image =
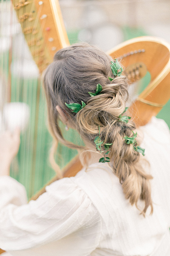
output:
[[[4,4],[4,2],[1,2],[1,9],[5,9],[7,5],[10,5],[9,3],[10,2],[5,2]],[[4,6],[2,6],[3,4]],[[38,66],[38,73],[41,74],[46,66],[52,61],[54,53],[58,49],[69,45],[58,1],[13,0],[13,7],[17,13],[18,20],[21,23],[21,30],[28,43],[30,52],[32,53],[36,65]],[[9,9],[11,9],[11,6]],[[32,165],[28,166],[28,169],[31,169],[32,173],[29,174],[27,172],[26,174],[13,174],[13,176],[18,178],[18,180],[22,183],[24,183],[23,176],[27,177],[27,183],[24,185],[27,187],[30,197],[36,190],[38,190],[39,187],[42,187],[42,183],[46,183],[46,181],[49,180],[50,176],[53,176],[53,174],[46,176],[44,173],[39,171],[39,168],[39,174],[35,172],[35,169],[40,165],[41,152],[38,151],[38,147],[43,147],[42,141],[44,141],[44,136],[46,137],[46,132],[43,133],[40,129],[40,126],[42,128],[42,126],[45,126],[45,124],[40,116],[40,110],[44,104],[44,101],[41,95],[39,75],[37,75],[35,81],[34,79],[31,79],[31,84],[34,86],[30,86],[28,78],[23,80],[23,77],[21,79],[15,77],[12,71],[10,71],[11,64],[13,64],[15,60],[15,56],[13,56],[12,53],[12,47],[13,45],[10,42],[9,48],[6,50],[6,52],[0,53],[0,76],[1,80],[3,80],[3,84],[6,84],[6,90],[4,90],[6,99],[4,100],[4,103],[5,101],[10,102],[17,100],[25,102],[27,97],[31,97],[30,101],[32,105],[34,105],[34,107],[31,107],[31,112],[33,113],[31,121],[33,122],[33,125],[30,125],[27,134],[23,135],[21,142],[23,152],[28,152],[28,147],[29,151],[32,151],[32,153],[28,153],[28,158],[26,158],[26,155],[23,155],[24,162],[22,162],[21,166],[24,168],[24,165],[26,166],[28,165],[29,161],[32,161]],[[170,98],[169,44],[161,39],[141,37],[131,39],[120,44],[109,51],[108,54],[110,54],[113,58],[121,57],[125,70],[124,72],[129,76],[129,79],[132,82],[140,80],[143,76],[145,76],[147,71],[149,71],[151,74],[151,81],[149,82],[149,85],[140,94],[140,96],[137,97],[129,109],[131,116],[134,117],[134,121],[137,125],[146,124],[152,116],[155,116],[162,109]],[[6,59],[9,60],[8,64],[6,64]],[[18,96],[16,95],[17,92]],[[14,98],[13,95],[16,95],[16,97]],[[1,110],[3,110],[4,103]],[[44,114],[44,108],[41,110],[41,112]],[[27,136],[29,138],[29,143],[26,139]],[[32,143],[30,143],[31,141]],[[40,142],[41,145],[39,145]],[[49,139],[47,139],[45,142],[49,143]],[[20,157],[22,158],[21,153]],[[73,155],[70,156],[70,159],[72,157]],[[81,167],[82,166],[78,157],[74,158],[63,169],[64,176],[74,176],[81,169]],[[41,184],[38,184],[34,190],[34,186],[36,185],[34,183],[36,179],[40,178],[40,176],[45,176],[44,180]],[[49,183],[57,179],[58,177],[55,176]],[[34,180],[33,188],[30,188],[30,180]],[[36,199],[44,191],[45,188],[38,192],[38,194],[36,194],[32,199]]]

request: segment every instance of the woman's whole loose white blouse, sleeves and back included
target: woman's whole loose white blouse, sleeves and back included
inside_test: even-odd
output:
[[[169,256],[170,133],[157,118],[141,130],[153,215],[131,206],[108,163],[53,182],[28,204],[24,187],[2,176],[0,248],[16,256]]]

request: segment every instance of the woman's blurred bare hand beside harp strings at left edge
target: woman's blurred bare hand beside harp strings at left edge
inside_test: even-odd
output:
[[[20,130],[13,133],[6,131],[0,134],[0,176],[10,174],[12,159],[18,153],[20,144]]]

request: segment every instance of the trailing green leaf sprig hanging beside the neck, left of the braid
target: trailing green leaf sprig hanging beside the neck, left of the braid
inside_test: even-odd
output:
[[[106,153],[104,151],[109,149],[109,146],[111,146],[113,143],[103,143],[103,141],[101,141],[101,135],[100,135],[100,126],[98,126],[98,130],[99,130],[99,135],[96,136],[96,138],[94,139],[94,143],[96,144],[96,150],[99,150],[100,153],[104,155],[104,157],[99,159],[99,162],[105,163],[105,162],[110,162],[111,159],[109,157],[106,157],[105,155],[109,154],[111,151],[107,151]],[[104,151],[102,151],[102,146],[104,146]]]

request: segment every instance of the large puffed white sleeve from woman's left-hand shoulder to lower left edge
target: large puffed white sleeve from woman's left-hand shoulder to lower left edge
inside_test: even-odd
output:
[[[80,244],[79,254],[74,254],[72,248],[72,254],[85,255],[86,251],[88,255],[100,241],[101,217],[89,197],[70,178],[47,186],[36,201],[19,207],[9,204],[0,211],[0,248],[7,251],[30,249],[54,241],[57,245],[57,241],[63,242],[70,234],[76,244],[80,233],[84,244]],[[68,246],[67,250],[69,255]]]

